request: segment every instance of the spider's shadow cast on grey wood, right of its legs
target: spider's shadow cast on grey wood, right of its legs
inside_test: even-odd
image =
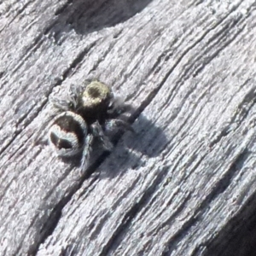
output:
[[[143,114],[133,128],[136,133],[125,131],[116,135],[113,152],[105,157],[104,165],[99,166],[101,178],[112,178],[128,169],[138,170],[166,147],[168,139],[165,133]]]

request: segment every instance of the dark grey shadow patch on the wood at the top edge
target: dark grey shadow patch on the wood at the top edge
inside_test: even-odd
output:
[[[55,10],[55,20],[46,33],[55,42],[63,32],[74,30],[80,35],[100,31],[104,27],[125,22],[141,12],[152,0],[69,0]]]

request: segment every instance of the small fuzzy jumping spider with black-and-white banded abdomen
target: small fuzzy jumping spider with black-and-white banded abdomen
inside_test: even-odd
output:
[[[93,80],[84,86],[72,87],[67,100],[55,100],[57,110],[48,132],[49,145],[61,157],[81,155],[81,167],[88,164],[95,140],[108,151],[113,148],[108,131],[114,128],[133,131],[119,119],[126,108],[108,85]]]

